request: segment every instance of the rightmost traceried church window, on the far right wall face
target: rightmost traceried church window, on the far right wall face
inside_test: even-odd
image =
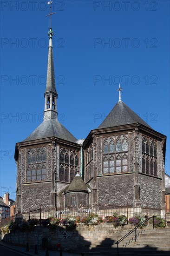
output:
[[[142,139],[142,173],[157,176],[157,142],[146,136]]]

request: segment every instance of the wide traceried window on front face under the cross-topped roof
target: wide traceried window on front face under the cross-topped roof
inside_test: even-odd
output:
[[[114,135],[104,139],[103,174],[128,171],[127,135]]]

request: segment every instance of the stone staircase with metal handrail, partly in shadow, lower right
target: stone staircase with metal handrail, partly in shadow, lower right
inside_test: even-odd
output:
[[[137,229],[137,240],[134,233],[122,242],[115,244],[127,231],[110,236],[98,236],[90,240],[91,245],[80,247],[76,253],[85,253],[85,256],[168,256],[170,255],[170,227],[164,229]],[[118,254],[119,253],[119,254]]]

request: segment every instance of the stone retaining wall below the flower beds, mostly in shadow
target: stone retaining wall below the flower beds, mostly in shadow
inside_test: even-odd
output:
[[[126,225],[125,229],[131,229],[131,225]],[[134,226],[133,226],[134,227]],[[49,226],[37,226],[33,230],[15,230],[2,236],[5,243],[15,244],[18,246],[29,247],[38,245],[39,249],[46,247],[48,241],[49,249],[57,249],[57,243],[60,243],[64,250],[78,249],[83,246],[90,246],[92,243],[98,243],[110,236],[120,234],[122,228],[115,229],[112,224],[101,224],[98,226],[78,225],[76,228],[57,226],[52,229]]]

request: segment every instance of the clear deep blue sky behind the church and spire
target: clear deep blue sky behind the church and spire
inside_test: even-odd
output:
[[[15,143],[43,121],[47,1],[1,0],[0,195],[15,199]],[[59,121],[78,139],[122,100],[167,135],[170,174],[170,1],[53,1]]]

